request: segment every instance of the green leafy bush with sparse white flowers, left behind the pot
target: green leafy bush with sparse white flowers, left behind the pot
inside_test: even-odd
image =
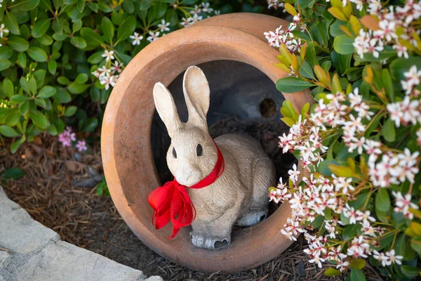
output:
[[[66,124],[93,132],[119,74],[147,44],[220,11],[262,9],[237,0],[0,0],[0,140],[16,138],[15,152]]]

